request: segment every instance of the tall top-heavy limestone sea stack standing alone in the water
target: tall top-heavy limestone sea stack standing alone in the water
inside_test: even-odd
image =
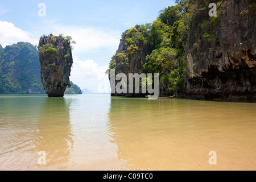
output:
[[[71,37],[43,35],[39,41],[40,73],[48,97],[63,97],[73,64]]]

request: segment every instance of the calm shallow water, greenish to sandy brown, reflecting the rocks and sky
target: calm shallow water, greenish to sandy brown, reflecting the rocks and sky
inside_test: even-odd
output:
[[[252,103],[0,95],[0,169],[255,170],[255,111]]]

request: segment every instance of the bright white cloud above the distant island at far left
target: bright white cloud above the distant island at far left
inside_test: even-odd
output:
[[[38,40],[30,32],[15,27],[13,23],[0,20],[0,44],[5,47],[17,42],[37,44]]]

